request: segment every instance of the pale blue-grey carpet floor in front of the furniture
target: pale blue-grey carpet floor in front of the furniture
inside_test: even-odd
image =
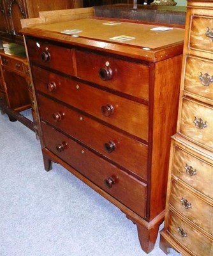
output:
[[[45,172],[40,141],[7,115],[0,115],[0,145],[1,256],[147,255],[117,207],[59,164]],[[159,236],[149,255],[165,255]]]

